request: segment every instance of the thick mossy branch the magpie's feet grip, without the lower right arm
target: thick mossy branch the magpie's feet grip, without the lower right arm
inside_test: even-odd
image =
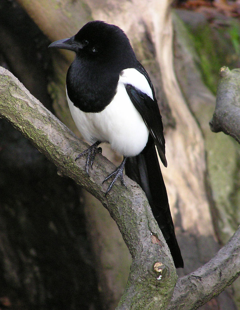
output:
[[[116,221],[133,256],[128,284],[117,309],[164,308],[171,298],[176,273],[141,188],[125,177],[128,189],[114,186],[105,197],[107,184],[102,185],[102,180],[114,169],[113,165],[97,155],[88,178],[85,159],[74,160],[77,152],[86,149],[86,144],[44,108],[9,71],[1,68],[0,76],[0,115],[54,162],[62,175],[71,177],[98,198]]]

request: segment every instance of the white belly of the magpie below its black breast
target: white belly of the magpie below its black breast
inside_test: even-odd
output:
[[[67,95],[70,112],[78,130],[90,144],[109,142],[121,155],[135,156],[145,147],[149,131],[133,106],[125,86],[118,84],[115,97],[99,113],[85,113],[76,108]]]

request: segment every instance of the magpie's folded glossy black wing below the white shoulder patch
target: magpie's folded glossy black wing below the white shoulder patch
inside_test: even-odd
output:
[[[162,117],[159,112],[157,100],[155,98],[153,100],[149,97],[149,95],[145,94],[133,85],[126,84],[125,88],[134,107],[140,113],[150,134],[152,135],[159,157],[161,158],[163,165],[166,167],[165,139],[163,136]]]

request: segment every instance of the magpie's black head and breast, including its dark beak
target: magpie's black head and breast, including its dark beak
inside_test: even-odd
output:
[[[66,76],[69,99],[83,112],[100,112],[116,95],[122,70],[137,66],[125,33],[117,26],[95,20],[68,39],[53,42],[76,52]]]

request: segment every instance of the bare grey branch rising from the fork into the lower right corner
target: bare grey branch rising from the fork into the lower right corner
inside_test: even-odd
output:
[[[240,227],[208,263],[177,281],[167,309],[197,309],[225,290],[239,274]]]

